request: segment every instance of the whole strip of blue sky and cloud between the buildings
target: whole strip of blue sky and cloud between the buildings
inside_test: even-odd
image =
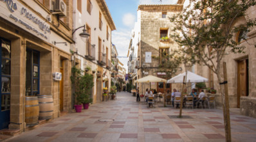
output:
[[[118,56],[127,56],[131,30],[137,20],[139,0],[105,0],[116,25],[112,32],[112,43],[116,45]],[[119,58],[123,67],[127,69],[128,58]]]

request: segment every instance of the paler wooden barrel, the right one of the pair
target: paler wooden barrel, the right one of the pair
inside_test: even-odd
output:
[[[53,115],[53,96],[38,95],[39,100],[39,120],[50,120]]]

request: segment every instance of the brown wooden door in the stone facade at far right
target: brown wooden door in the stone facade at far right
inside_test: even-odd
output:
[[[248,96],[248,60],[238,61],[237,69],[237,107],[240,107],[240,97]]]

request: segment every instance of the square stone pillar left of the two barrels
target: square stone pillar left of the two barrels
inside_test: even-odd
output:
[[[21,38],[11,43],[11,106],[9,129],[23,130],[26,127],[24,119],[25,107],[25,52],[26,45],[21,45]]]

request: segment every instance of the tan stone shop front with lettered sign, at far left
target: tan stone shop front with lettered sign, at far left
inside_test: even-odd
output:
[[[0,129],[26,129],[26,96],[52,95],[53,119],[71,111],[73,1],[51,2],[0,1]]]

